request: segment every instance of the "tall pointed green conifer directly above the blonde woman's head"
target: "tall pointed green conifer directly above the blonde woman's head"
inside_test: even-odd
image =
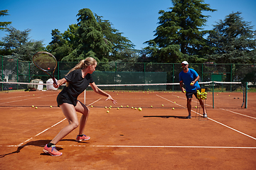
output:
[[[63,61],[80,61],[85,57],[94,57],[97,61],[104,60],[112,52],[112,43],[104,38],[100,24],[89,8],[80,9],[77,16],[78,47],[64,57]]]

